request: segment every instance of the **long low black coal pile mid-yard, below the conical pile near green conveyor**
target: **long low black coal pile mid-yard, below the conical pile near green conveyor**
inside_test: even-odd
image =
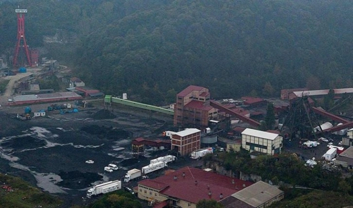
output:
[[[100,138],[105,139],[127,139],[132,136],[132,133],[129,131],[125,131],[123,129],[113,129],[113,128],[106,128],[100,127],[97,125],[86,126],[81,128],[82,131],[85,131],[89,134],[98,135]]]

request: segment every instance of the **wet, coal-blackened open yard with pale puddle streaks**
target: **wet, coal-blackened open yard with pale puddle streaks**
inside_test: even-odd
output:
[[[141,169],[150,159],[169,154],[169,150],[148,148],[144,157],[134,159],[131,155],[132,139],[161,139],[161,132],[155,129],[172,128],[168,116],[90,109],[19,121],[9,112],[11,109],[0,112],[0,172],[20,176],[60,196],[65,200],[63,207],[87,205],[89,201],[82,197],[92,185],[121,179],[127,170]],[[118,165],[119,170],[104,172],[109,163]],[[200,162],[180,159],[170,168],[185,165],[199,166]],[[136,182],[125,185],[132,188]]]

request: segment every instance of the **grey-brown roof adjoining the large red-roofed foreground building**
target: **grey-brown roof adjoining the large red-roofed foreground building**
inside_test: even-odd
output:
[[[263,181],[259,181],[239,192],[232,194],[233,197],[257,208],[282,194],[283,191]]]

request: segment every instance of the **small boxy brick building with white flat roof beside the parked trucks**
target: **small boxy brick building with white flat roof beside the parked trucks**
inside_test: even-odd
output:
[[[187,128],[183,131],[172,134],[172,150],[176,150],[181,156],[189,155],[193,151],[200,149],[201,130],[197,128]]]

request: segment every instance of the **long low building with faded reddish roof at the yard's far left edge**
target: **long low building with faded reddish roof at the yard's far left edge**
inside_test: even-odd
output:
[[[78,100],[78,99],[82,99],[82,96],[74,92],[23,95],[23,96],[14,96],[12,99],[9,99],[8,105],[23,105],[23,104],[34,104],[34,103],[45,103],[45,102],[56,102],[56,101],[65,101],[65,100]]]

